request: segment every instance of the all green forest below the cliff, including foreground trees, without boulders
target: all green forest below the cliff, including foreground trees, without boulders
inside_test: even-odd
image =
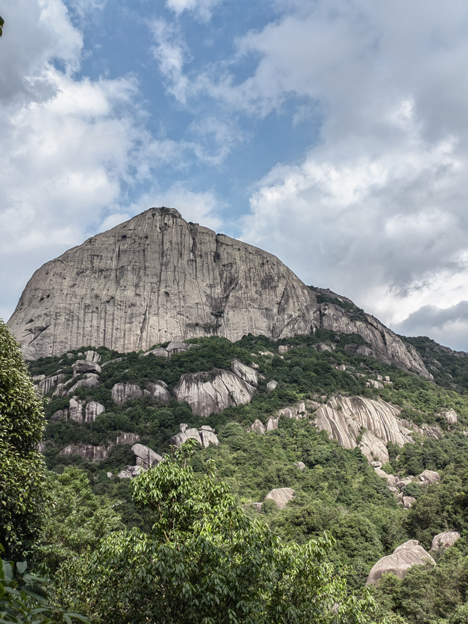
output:
[[[218,337],[192,339],[187,342],[197,348],[170,358],[83,346],[31,361],[21,373],[19,356],[8,355],[17,346],[2,325],[1,358],[7,363],[2,371],[20,371],[17,383],[32,392],[33,414],[26,417],[24,407],[15,408],[16,442],[11,444],[29,439],[29,455],[17,446],[19,464],[9,467],[24,475],[9,486],[9,501],[0,510],[5,557],[27,560],[28,572],[42,579],[36,583],[55,605],[57,622],[68,621],[67,613],[91,622],[135,623],[331,622],[336,617],[343,622],[468,622],[468,357],[429,338],[401,338],[416,348],[434,381],[356,354],[357,346],[366,345],[357,334],[321,329],[280,341],[251,334],[234,344]],[[85,378],[74,374],[73,365],[90,350],[100,356],[99,384],[77,388],[74,396],[105,411],[91,422],[54,419],[70,397],[52,396],[52,386],[39,399],[30,376],[37,383],[41,376],[60,374],[69,388]],[[145,389],[161,380],[172,393],[182,374],[228,370],[233,359],[258,371],[250,404],[205,418],[175,398],[162,404],[145,396],[120,405],[112,399],[115,384]],[[391,383],[369,387],[369,379],[385,377]],[[271,380],[277,382],[273,391],[267,388]],[[416,499],[411,509],[398,503],[359,447],[341,447],[313,419],[280,417],[273,431],[251,431],[254,421],[265,425],[281,408],[301,402],[323,406],[336,394],[388,402],[406,421],[441,430],[440,439],[415,436],[414,444],[402,447],[388,442],[389,461],[382,466],[388,474],[403,479],[436,470],[441,476],[434,484],[407,485],[405,495]],[[456,423],[447,422],[447,409],[456,412]],[[39,416],[42,410],[45,419]],[[30,431],[19,431],[20,422]],[[180,423],[212,427],[219,446],[189,441],[175,451],[171,437]],[[120,470],[136,461],[132,444],[118,443],[123,433],[135,434],[165,461],[139,477],[120,479]],[[1,444],[4,461],[7,447]],[[86,459],[79,453],[85,445],[103,449],[104,458]],[[27,470],[22,456],[31,462]],[[297,462],[305,467],[298,469]],[[7,482],[2,477],[2,496]],[[266,500],[258,513],[252,503],[281,487],[295,493],[286,507],[277,509]],[[25,504],[19,504],[21,497]],[[171,500],[184,500],[185,507]],[[387,574],[378,585],[364,587],[374,563],[398,545],[416,539],[429,550],[433,537],[447,530],[462,537],[434,553],[436,566],[414,565],[402,580]],[[209,556],[200,557],[201,552]],[[231,565],[225,573],[226,562],[234,560],[236,568]],[[235,591],[229,578],[235,578]],[[325,594],[328,602],[318,598]]]

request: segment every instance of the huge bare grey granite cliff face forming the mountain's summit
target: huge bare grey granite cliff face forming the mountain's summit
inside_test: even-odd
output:
[[[41,266],[8,324],[26,359],[84,344],[147,351],[198,336],[332,329],[360,334],[371,356],[430,377],[415,349],[374,317],[354,314],[346,298],[323,301],[324,293],[266,251],[172,208],[150,208]]]

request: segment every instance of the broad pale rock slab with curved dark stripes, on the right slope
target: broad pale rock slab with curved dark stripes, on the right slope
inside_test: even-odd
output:
[[[361,440],[361,451],[369,461],[373,461],[375,457],[384,464],[389,459],[386,449],[388,442],[395,442],[399,446],[403,446],[406,442],[414,444],[412,431],[402,424],[404,422],[409,426],[409,423],[400,419],[400,412],[399,407],[385,401],[336,394],[326,405],[319,407],[314,416],[317,429],[328,431],[329,436],[338,440],[346,449],[356,448],[356,438],[361,428],[367,429]],[[421,427],[414,424],[411,426],[413,431],[421,436],[442,436],[442,431],[438,427],[425,424]]]

